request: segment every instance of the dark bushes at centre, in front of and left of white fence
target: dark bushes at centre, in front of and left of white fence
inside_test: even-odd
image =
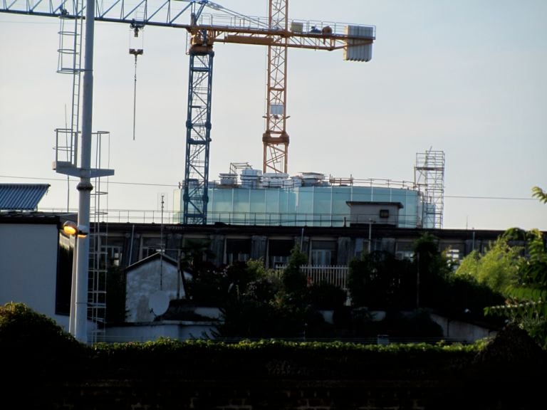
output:
[[[229,298],[217,337],[332,337],[334,327],[319,310],[343,308],[345,291],[308,283],[301,271],[305,263],[307,257],[296,245],[281,275],[264,268],[261,260],[229,267]]]

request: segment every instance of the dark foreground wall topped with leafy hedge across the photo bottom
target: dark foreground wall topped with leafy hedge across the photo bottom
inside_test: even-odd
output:
[[[32,358],[20,346],[4,362],[6,408],[528,410],[543,408],[547,382],[546,351],[511,328],[478,351],[199,342]]]

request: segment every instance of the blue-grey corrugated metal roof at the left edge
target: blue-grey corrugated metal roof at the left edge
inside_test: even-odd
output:
[[[0,184],[0,210],[35,211],[49,184]]]

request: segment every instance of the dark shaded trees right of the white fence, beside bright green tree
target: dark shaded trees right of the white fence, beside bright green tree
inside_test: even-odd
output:
[[[397,261],[389,253],[375,252],[352,261],[348,289],[353,306],[388,311],[427,307],[459,320],[484,321],[484,307],[503,303],[502,295],[478,283],[474,276],[455,275],[452,262],[439,251],[437,238],[431,234],[419,238],[414,248],[413,261]],[[464,269],[474,270],[475,258],[464,259]],[[379,331],[372,318],[360,315],[362,311],[353,312],[356,334]],[[489,321],[492,325],[503,323],[494,318]]]

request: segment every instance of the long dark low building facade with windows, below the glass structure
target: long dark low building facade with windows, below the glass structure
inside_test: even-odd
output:
[[[415,241],[428,232],[439,239],[439,250],[456,260],[473,249],[484,251],[503,231],[397,228],[384,224],[360,226],[239,226],[213,224],[108,224],[103,243],[108,263],[130,266],[163,251],[177,258],[188,243],[202,243],[217,266],[261,258],[268,268],[282,266],[295,246],[308,255],[309,265],[348,266],[368,251],[387,251],[412,258]]]

